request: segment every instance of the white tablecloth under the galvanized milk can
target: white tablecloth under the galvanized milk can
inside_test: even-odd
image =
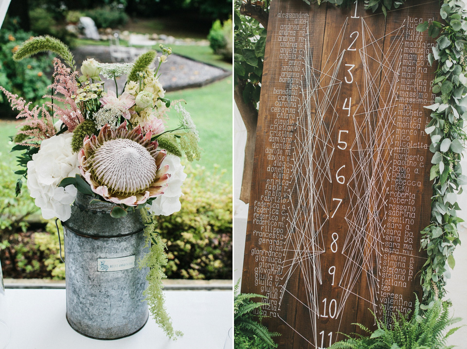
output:
[[[6,289],[11,340],[7,349],[223,349],[233,323],[232,291],[164,291],[177,341],[168,339],[150,317],[129,337],[102,341],[68,324],[63,289]]]

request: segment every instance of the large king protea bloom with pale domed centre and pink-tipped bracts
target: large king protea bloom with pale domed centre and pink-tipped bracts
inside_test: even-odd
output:
[[[91,190],[115,204],[137,206],[161,195],[170,175],[166,156],[151,142],[152,132],[143,135],[140,126],[127,131],[126,122],[116,130],[104,125],[96,137],[86,136],[78,154],[81,175]]]

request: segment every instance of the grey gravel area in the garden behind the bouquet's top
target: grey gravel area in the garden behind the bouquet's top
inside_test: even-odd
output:
[[[136,49],[138,54],[144,49]],[[77,67],[88,58],[95,58],[102,63],[111,63],[110,51],[106,46],[80,46],[72,50]],[[159,81],[166,91],[175,91],[188,87],[201,87],[214,81],[223,79],[232,74],[232,71],[204,64],[190,58],[171,54],[159,70]],[[122,91],[126,78],[122,76],[117,80],[118,90]],[[113,89],[114,82],[108,81],[106,86]]]

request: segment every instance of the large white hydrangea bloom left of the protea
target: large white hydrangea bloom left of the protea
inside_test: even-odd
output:
[[[72,133],[64,133],[43,140],[33,160],[28,162],[27,186],[44,219],[70,218],[77,190],[73,185],[65,188],[58,184],[66,177],[79,173],[78,155],[72,151]]]

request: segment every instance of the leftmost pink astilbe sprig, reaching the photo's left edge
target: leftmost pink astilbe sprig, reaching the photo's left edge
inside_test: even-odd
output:
[[[2,90],[8,98],[11,108],[19,111],[16,118],[26,118],[26,120],[18,126],[21,128],[18,133],[27,135],[28,138],[19,144],[38,147],[40,141],[55,135],[54,121],[44,105],[36,105],[30,110],[29,107],[31,103],[26,103],[23,98],[18,97],[17,94],[8,92],[1,86],[0,90]]]

